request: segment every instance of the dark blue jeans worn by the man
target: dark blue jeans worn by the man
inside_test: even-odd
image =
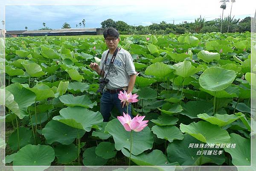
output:
[[[122,108],[121,100],[118,99],[119,93],[109,93],[107,91],[103,91],[102,98],[100,99],[100,113],[103,116],[103,122],[108,122],[110,117],[110,112],[113,109],[114,105],[118,109],[118,112],[121,116],[123,116],[123,112],[127,113],[127,106],[125,105]],[[131,114],[131,103],[128,105],[128,114],[133,118]]]

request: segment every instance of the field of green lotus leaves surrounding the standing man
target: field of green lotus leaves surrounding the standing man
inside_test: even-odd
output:
[[[250,165],[250,33],[121,36],[139,75],[126,131],[99,112],[102,38],[6,39],[6,165]],[[3,80],[1,80],[3,81]],[[6,131],[6,133],[7,133]],[[131,144],[132,140],[132,146]]]

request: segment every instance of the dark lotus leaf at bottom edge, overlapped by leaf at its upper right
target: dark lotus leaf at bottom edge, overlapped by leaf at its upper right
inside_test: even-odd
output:
[[[95,148],[87,148],[83,153],[83,163],[84,165],[105,165],[108,162],[108,159],[104,159],[95,154]]]

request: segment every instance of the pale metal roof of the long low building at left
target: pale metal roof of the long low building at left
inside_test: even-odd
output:
[[[55,30],[29,30],[23,32],[23,34],[31,33],[59,33],[59,32],[96,32],[96,28],[86,28],[86,29],[55,29]]]

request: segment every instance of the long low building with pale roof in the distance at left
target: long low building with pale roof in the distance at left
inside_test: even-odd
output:
[[[55,29],[55,30],[20,30],[7,31],[12,36],[16,33],[17,36],[69,36],[69,35],[103,35],[101,28],[86,28],[86,29]]]

